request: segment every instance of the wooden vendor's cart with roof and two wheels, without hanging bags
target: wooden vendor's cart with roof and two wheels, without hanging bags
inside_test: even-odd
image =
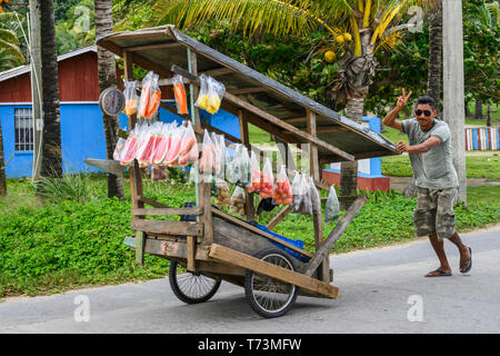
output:
[[[250,145],[250,122],[284,144],[280,146],[281,154],[290,176],[294,167],[288,159],[287,144],[307,149],[318,189],[329,188],[321,180],[324,164],[398,154],[393,144],[377,132],[199,43],[173,26],[118,32],[100,38],[98,44],[123,58],[126,80],[133,79],[132,65],[159,73],[162,86],[171,85],[173,73],[181,75],[189,85],[192,112],[183,118],[192,120],[199,141],[203,129],[208,129],[224,134],[228,145],[240,142],[261,155]],[[198,97],[201,73],[224,83],[222,109],[238,116],[240,138],[200,120],[193,99]],[[116,79],[110,81],[120,86]],[[171,106],[161,107],[177,115]],[[129,129],[134,125],[136,117],[129,117]],[[367,201],[366,196],[359,196],[326,239],[322,217],[314,214],[316,253],[310,254],[248,222],[254,217],[252,194],[246,192],[247,220],[243,220],[211,205],[207,182],[198,185],[192,207],[169,207],[144,197],[137,160],[130,168],[130,185],[131,228],[136,236],[126,238],[126,244],[136,249],[137,263],[143,263],[144,254],[171,260],[170,285],[189,304],[211,298],[221,280],[243,286],[250,306],[263,317],[283,315],[297,295],[322,298],[340,295],[339,288],[330,284],[329,251]],[[272,230],[290,211],[290,206],[282,208],[267,228]],[[181,219],[156,220],[158,216],[181,216]],[[179,266],[187,273],[180,274]]]

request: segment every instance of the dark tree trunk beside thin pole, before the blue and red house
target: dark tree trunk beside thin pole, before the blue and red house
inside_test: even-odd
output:
[[[59,108],[58,58],[53,0],[40,1],[43,146],[40,175],[62,177],[61,118]]]

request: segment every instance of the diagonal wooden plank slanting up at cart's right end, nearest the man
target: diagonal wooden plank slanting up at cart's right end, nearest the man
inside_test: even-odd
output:
[[[327,240],[321,245],[320,249],[317,250],[314,257],[309,260],[304,275],[311,276],[321,261],[330,255],[330,249],[333,247],[334,243],[340,238],[340,236],[346,231],[349,224],[352,219],[358,215],[361,208],[368,200],[368,196],[361,195],[359,196],[354,202],[349,207],[346,215],[340,219],[340,221],[336,225],[336,227],[331,230],[330,235],[328,235]]]

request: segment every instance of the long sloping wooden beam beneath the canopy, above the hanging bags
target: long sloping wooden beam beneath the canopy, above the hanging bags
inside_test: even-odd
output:
[[[193,82],[196,82],[197,85],[200,83],[200,79],[197,76],[192,76],[191,73],[189,73],[188,71],[186,71],[184,69],[173,65],[171,68],[172,72],[180,75],[182,77],[188,78],[189,80],[192,80]],[[228,101],[232,102],[233,105],[237,105],[238,107],[246,109],[252,113],[254,113],[256,116],[258,116],[259,118],[264,119],[266,121],[276,125],[278,127],[280,127],[281,129],[284,129],[287,131],[292,132],[293,135],[307,140],[310,144],[316,144],[318,145],[318,147],[321,147],[326,150],[329,150],[330,152],[334,154],[334,155],[339,155],[341,157],[343,157],[346,160],[354,160],[354,157],[352,155],[349,155],[348,152],[331,146],[330,144],[324,142],[323,140],[320,140],[317,137],[313,137],[307,132],[303,132],[301,130],[299,130],[298,128],[296,128],[294,126],[284,122],[283,120],[252,106],[251,103],[241,100],[240,98],[238,98],[237,96],[231,95],[230,92],[226,92],[224,93],[224,99],[227,99]]]

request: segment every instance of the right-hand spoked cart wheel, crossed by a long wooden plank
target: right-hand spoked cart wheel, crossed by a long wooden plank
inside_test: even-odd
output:
[[[254,257],[267,263],[296,270],[286,253],[277,248],[264,249]],[[294,285],[248,270],[244,276],[244,293],[250,307],[264,318],[284,315],[297,299]]]

